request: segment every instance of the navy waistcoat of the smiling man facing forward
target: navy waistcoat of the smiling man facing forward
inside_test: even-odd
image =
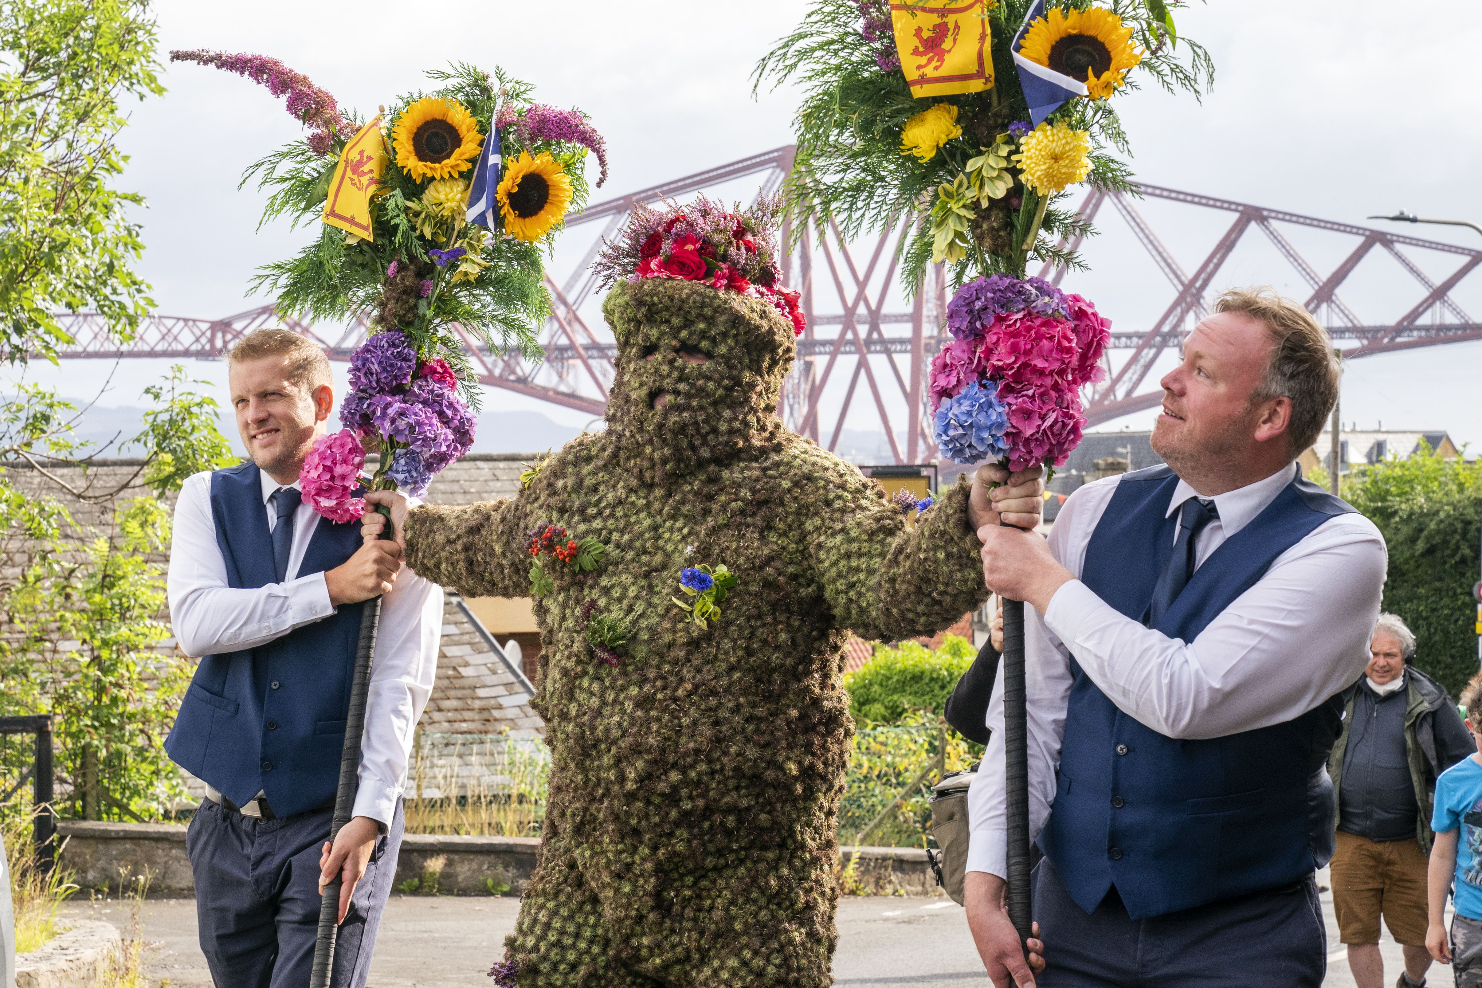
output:
[[[228,585],[277,582],[256,464],[210,475],[210,515]],[[359,547],[357,523],[320,518],[298,575],[330,570]],[[333,798],[362,609],[342,604],[267,644],[202,658],[165,751],[239,806],[262,791],[288,816]]]

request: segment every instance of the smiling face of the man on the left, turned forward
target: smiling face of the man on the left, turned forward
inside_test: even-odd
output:
[[[252,462],[280,484],[298,478],[333,391],[295,381],[288,357],[233,361],[228,375],[237,431]]]

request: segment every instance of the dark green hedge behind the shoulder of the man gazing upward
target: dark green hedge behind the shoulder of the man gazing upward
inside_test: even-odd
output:
[[[1476,600],[1482,468],[1421,447],[1363,470],[1344,498],[1389,545],[1384,610],[1415,632],[1415,667],[1452,696],[1478,671]],[[1335,615],[1337,618],[1337,615]]]

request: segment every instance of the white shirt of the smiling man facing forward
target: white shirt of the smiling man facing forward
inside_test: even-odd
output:
[[[267,473],[261,475],[262,510],[273,530],[277,513],[271,498],[279,483]],[[299,504],[293,513],[288,579],[256,590],[236,590],[227,584],[227,561],[216,545],[210,473],[190,477],[175,502],[167,579],[170,622],[181,649],[194,656],[253,649],[335,613],[323,573],[296,576],[317,526],[319,514],[308,504]],[[271,553],[271,547],[264,545],[262,551]],[[391,593],[381,598],[356,816],[391,824],[406,785],[412,732],[437,675],[442,628],[443,588],[403,564]],[[210,779],[203,782],[210,784]]]

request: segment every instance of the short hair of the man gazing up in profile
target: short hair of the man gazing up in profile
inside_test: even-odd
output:
[[[1291,398],[1286,441],[1292,456],[1301,453],[1317,441],[1338,400],[1338,358],[1328,330],[1304,307],[1266,286],[1224,292],[1214,311],[1240,313],[1266,326],[1272,360],[1251,393],[1251,404]]]

